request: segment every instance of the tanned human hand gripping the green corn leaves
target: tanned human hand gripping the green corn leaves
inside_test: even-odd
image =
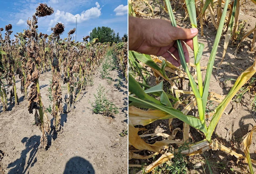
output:
[[[173,27],[168,20],[140,19],[129,16],[129,50],[162,56],[176,67],[180,66],[176,40],[182,40],[185,60],[189,62],[189,52],[185,43],[193,50],[192,38],[197,33],[196,28]]]

